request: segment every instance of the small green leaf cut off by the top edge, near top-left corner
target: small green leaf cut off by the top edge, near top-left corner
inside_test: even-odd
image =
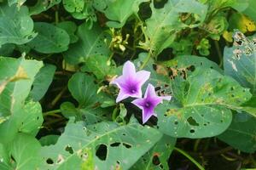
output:
[[[38,2],[29,8],[30,14],[40,14],[55,4],[61,3],[61,0],[38,0]]]

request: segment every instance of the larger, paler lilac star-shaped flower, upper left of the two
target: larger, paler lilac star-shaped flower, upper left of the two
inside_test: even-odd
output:
[[[141,98],[143,83],[148,80],[149,71],[137,71],[131,61],[126,61],[123,67],[123,75],[114,79],[110,84],[120,88],[116,102],[128,97]]]

